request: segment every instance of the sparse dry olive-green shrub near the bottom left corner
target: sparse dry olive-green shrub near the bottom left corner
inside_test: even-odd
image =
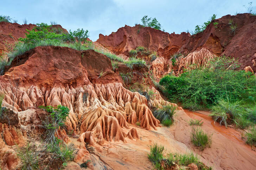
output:
[[[22,170],[37,170],[39,169],[38,166],[38,155],[39,152],[37,152],[35,149],[32,148],[30,143],[27,144],[24,148],[19,148],[17,150],[17,156],[21,160],[21,169]]]

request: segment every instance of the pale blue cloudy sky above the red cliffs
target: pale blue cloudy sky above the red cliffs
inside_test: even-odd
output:
[[[145,15],[156,18],[168,33],[193,31],[213,14],[245,13],[248,2],[256,12],[256,0],[0,0],[0,15],[9,15],[23,24],[55,21],[73,31],[88,29],[90,39],[109,35],[125,25],[141,23]]]

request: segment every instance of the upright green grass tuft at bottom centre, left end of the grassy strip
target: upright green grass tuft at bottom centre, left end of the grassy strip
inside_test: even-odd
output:
[[[155,165],[156,169],[160,169],[160,162],[163,159],[164,147],[154,144],[150,147],[150,153],[148,154],[148,158]]]

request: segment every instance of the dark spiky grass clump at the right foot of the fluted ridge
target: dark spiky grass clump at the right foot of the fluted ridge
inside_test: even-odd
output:
[[[176,113],[176,109],[177,107],[175,106],[166,105],[162,106],[162,108],[153,111],[153,114],[155,118],[157,118],[160,122],[162,122],[165,119],[173,120],[173,115]]]

